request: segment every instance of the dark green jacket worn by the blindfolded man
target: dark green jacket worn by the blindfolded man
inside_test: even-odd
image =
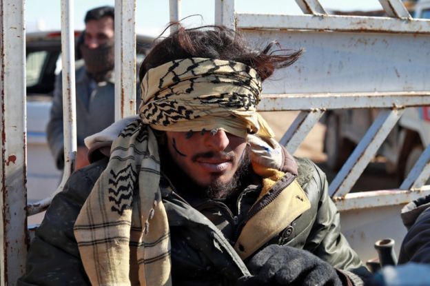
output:
[[[101,159],[75,172],[63,192],[55,196],[32,241],[27,272],[19,279],[18,285],[89,285],[73,225],[106,165],[107,159]],[[339,213],[327,194],[325,174],[314,163],[298,159],[297,180],[311,207],[298,214],[265,245],[277,243],[307,249],[337,269],[367,276],[369,272],[340,234]],[[285,187],[283,184],[289,183],[291,180],[283,179],[277,185]],[[234,285],[237,278],[248,273],[240,256],[232,251],[232,245],[236,243],[234,240],[244,223],[252,219],[247,214],[253,210],[252,205],[260,190],[258,185],[250,185],[240,194],[237,216],[221,202],[192,202],[192,207],[174,192],[167,178],[161,179],[161,190],[172,238],[172,280],[175,286]],[[347,274],[356,278],[354,274]]]

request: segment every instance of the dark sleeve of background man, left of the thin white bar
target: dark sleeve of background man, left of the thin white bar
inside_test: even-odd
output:
[[[63,84],[61,83],[62,76],[59,74],[55,79],[54,98],[52,99],[52,107],[50,110],[50,119],[46,127],[48,135],[48,144],[52,155],[54,156],[57,168],[63,169]]]

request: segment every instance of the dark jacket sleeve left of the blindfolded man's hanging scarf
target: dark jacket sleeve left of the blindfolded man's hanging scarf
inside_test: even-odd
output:
[[[26,272],[17,285],[90,285],[74,238],[73,225],[106,159],[70,176],[46,211],[28,251]]]

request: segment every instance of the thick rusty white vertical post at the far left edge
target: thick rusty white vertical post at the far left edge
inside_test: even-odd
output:
[[[27,255],[24,1],[0,0],[0,285],[14,285]]]

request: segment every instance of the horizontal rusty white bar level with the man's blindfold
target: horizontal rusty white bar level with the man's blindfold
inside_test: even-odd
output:
[[[354,92],[332,94],[263,94],[258,110],[404,108],[430,105],[430,92]]]

